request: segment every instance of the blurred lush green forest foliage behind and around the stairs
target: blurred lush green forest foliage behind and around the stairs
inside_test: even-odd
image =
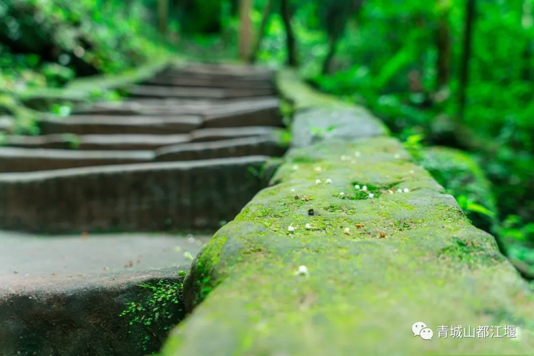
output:
[[[533,2],[476,1],[465,85],[467,0],[289,2],[301,74],[381,117],[474,224],[527,265],[534,265]],[[256,30],[266,4],[254,2]],[[276,67],[288,51],[274,4],[256,59]],[[157,19],[158,0],[0,0],[0,115],[18,114],[19,93],[28,89],[59,88],[170,54],[237,59],[237,1],[170,0],[164,36]],[[440,62],[443,29],[450,55]]]

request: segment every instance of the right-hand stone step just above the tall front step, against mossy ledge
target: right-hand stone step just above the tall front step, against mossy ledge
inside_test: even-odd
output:
[[[279,157],[286,152],[274,137],[245,137],[166,146],[156,150],[156,161],[210,160],[225,157],[267,155]]]

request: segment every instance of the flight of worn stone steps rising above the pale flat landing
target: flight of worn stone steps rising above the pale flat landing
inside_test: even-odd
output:
[[[4,230],[215,231],[285,152],[271,70],[170,66],[128,92],[6,136]]]

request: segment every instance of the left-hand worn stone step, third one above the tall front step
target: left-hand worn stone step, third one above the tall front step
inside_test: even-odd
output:
[[[200,116],[90,116],[72,115],[64,118],[44,118],[40,121],[43,135],[52,133],[113,134],[144,133],[171,135],[187,133],[202,125]]]

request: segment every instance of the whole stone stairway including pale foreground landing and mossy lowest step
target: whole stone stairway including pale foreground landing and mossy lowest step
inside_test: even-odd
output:
[[[233,219],[286,151],[272,76],[167,68],[127,100],[45,116],[40,136],[5,136],[0,356],[159,350],[184,316],[179,272],[210,239],[185,233]]]

